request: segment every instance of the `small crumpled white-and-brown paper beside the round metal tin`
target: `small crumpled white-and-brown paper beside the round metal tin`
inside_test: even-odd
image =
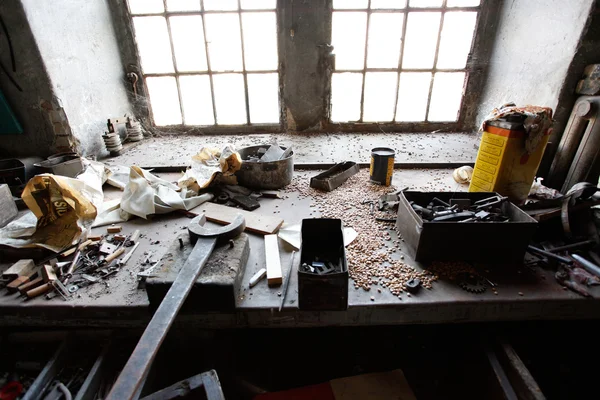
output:
[[[242,158],[232,145],[226,145],[222,150],[203,147],[192,157],[190,168],[179,178],[177,186],[198,192],[207,187],[217,174],[232,176],[241,166]]]

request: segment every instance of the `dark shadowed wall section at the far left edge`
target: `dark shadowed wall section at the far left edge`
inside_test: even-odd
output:
[[[0,135],[0,158],[32,154],[45,156],[50,154],[55,137],[47,107],[41,106],[53,101],[50,78],[21,2],[1,1],[0,15],[15,50],[17,71],[11,71],[11,75],[23,91],[19,91],[4,73],[0,73],[0,89],[24,130],[20,135]],[[9,47],[4,33],[0,35],[0,58],[11,70]]]

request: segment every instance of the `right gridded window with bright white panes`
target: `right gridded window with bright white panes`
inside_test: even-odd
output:
[[[333,0],[331,122],[455,122],[479,0]]]

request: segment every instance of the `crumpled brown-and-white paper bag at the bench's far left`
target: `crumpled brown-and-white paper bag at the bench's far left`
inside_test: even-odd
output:
[[[21,196],[30,212],[0,230],[0,244],[59,252],[76,243],[92,226],[96,204],[104,197],[98,167],[81,174],[82,179],[52,174],[31,178]]]

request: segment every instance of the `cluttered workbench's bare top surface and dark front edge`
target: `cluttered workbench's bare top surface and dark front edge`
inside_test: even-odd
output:
[[[312,176],[318,171],[304,172]],[[296,173],[298,174],[298,172]],[[159,174],[162,178],[175,180],[175,174]],[[414,190],[466,190],[452,180],[452,170],[397,170],[394,183],[398,187],[409,186]],[[114,191],[106,190],[106,198],[114,197]],[[118,194],[118,193],[117,193]],[[281,216],[286,224],[299,223],[303,218],[318,217],[311,208],[310,198],[289,193],[287,199],[261,199],[257,213]],[[291,204],[294,204],[292,207]],[[200,206],[201,208],[201,206]],[[276,210],[280,213],[273,214]],[[312,213],[312,215],[311,215]],[[2,292],[0,296],[0,326],[103,326],[139,327],[151,317],[145,290],[138,289],[136,273],[144,252],[151,251],[156,257],[182,234],[187,235],[190,219],[179,213],[156,216],[151,221],[135,218],[121,224],[123,233],[140,229],[144,237],[127,265],[103,283],[80,289],[74,298],[63,301],[36,298],[24,301],[17,294]],[[392,226],[390,224],[390,226]],[[106,227],[97,228],[104,233]],[[395,234],[392,230],[392,233]],[[264,241],[261,236],[249,234],[250,256],[243,276],[242,290],[237,296],[236,311],[231,313],[184,313],[176,325],[204,328],[236,327],[316,327],[432,324],[474,321],[514,321],[532,319],[583,319],[600,316],[600,289],[592,288],[592,298],[584,298],[564,290],[554,279],[553,271],[539,267],[526,268],[506,265],[486,271],[486,278],[498,284],[497,294],[487,290],[472,294],[460,289],[454,282],[440,279],[431,290],[422,289],[412,296],[398,299],[387,289],[381,292],[374,285],[370,291],[355,289],[349,282],[348,310],[301,311],[297,308],[297,264],[290,281],[286,303],[278,312],[280,287],[269,288],[266,280],[252,289],[248,282],[252,275],[265,265]],[[151,244],[160,241],[158,244]],[[287,274],[291,247],[280,241],[282,271]],[[398,253],[392,258],[400,257]],[[420,267],[404,254],[404,262]],[[3,270],[5,265],[2,264]],[[489,272],[488,272],[489,271]],[[372,297],[374,300],[372,300]]]

